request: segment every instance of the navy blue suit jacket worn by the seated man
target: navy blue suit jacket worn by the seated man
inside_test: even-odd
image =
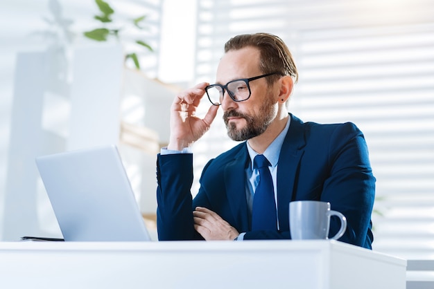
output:
[[[251,231],[245,196],[247,145],[240,145],[209,160],[202,171],[200,189],[192,200],[191,153],[157,157],[157,230],[159,240],[202,239],[193,227],[193,209],[207,207],[220,215],[244,239],[290,239],[290,201],[331,203],[347,217],[340,241],[372,248],[371,214],[375,178],[363,133],[352,123],[317,124],[290,115],[290,127],[277,167],[279,231]],[[340,227],[331,219],[330,236]]]

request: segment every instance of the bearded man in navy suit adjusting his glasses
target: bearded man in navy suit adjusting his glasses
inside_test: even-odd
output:
[[[168,147],[157,157],[159,240],[290,239],[290,201],[316,200],[346,216],[340,241],[372,248],[375,178],[363,133],[351,123],[304,123],[288,113],[297,77],[279,37],[238,35],[225,44],[216,84],[175,97]],[[214,105],[200,119],[195,112],[205,94]],[[243,142],[209,160],[192,200],[189,147],[209,129],[219,106],[228,136]],[[268,169],[257,167],[257,155],[266,157]],[[271,187],[259,189],[261,182]],[[258,201],[259,191],[272,192],[266,197],[272,201]],[[267,202],[273,205],[263,209]],[[332,218],[330,235],[339,227]]]

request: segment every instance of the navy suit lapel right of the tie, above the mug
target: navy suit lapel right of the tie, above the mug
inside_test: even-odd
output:
[[[281,147],[277,167],[277,211],[280,230],[287,230],[289,202],[295,199],[295,180],[306,145],[301,120],[290,114],[290,126]]]

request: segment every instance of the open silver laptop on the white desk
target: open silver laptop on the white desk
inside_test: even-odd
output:
[[[64,241],[150,241],[116,146],[36,158]]]

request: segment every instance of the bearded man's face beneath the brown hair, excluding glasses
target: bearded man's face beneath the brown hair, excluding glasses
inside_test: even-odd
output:
[[[231,50],[220,60],[217,80],[220,84],[229,81],[262,75],[259,70],[259,50],[247,47]],[[266,78],[249,83],[252,94],[248,100],[234,102],[225,95],[222,100],[223,120],[227,135],[232,140],[248,140],[266,131],[277,115],[277,105]]]

